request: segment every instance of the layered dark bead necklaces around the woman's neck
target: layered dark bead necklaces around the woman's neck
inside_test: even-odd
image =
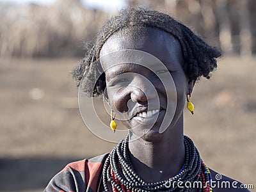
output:
[[[135,172],[129,157],[128,143],[127,135],[113,148],[104,163],[102,175],[105,191],[109,191],[107,182],[111,183],[113,191],[191,191],[198,186],[198,183],[201,184],[200,192],[212,191],[211,173],[200,159],[198,150],[188,136],[184,136],[185,163],[179,173],[159,182],[148,183]]]

